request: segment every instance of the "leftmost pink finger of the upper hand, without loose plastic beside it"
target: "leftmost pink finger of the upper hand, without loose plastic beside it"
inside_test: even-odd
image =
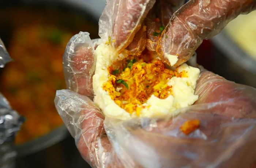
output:
[[[114,23],[112,23],[111,42],[118,51],[132,42],[154,3],[155,0],[124,0],[123,3],[114,4],[117,7],[114,8],[116,11],[114,11]]]

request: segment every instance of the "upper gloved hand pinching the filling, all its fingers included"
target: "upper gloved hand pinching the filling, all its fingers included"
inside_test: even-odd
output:
[[[173,65],[178,66],[189,60],[203,39],[218,34],[239,14],[256,9],[256,0],[190,0],[179,8],[183,3],[184,0],[110,0],[99,22],[99,35],[110,37],[118,50],[128,46],[134,54],[139,54],[147,41],[147,49],[156,50],[169,65],[165,55],[178,56]],[[140,32],[136,34],[137,31]]]

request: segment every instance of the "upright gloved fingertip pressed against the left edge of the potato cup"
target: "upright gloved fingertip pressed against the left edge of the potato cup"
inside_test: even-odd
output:
[[[68,42],[63,55],[67,88],[93,98],[92,77],[95,71],[94,43],[89,33],[80,32]]]

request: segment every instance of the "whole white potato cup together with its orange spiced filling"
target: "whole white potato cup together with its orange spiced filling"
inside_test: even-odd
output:
[[[182,64],[171,70],[147,51],[138,57],[126,50],[117,54],[108,44],[99,45],[95,54],[94,102],[108,117],[161,117],[198,99],[198,68]]]

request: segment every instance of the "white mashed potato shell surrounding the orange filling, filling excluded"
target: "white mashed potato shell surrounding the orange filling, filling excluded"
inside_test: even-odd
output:
[[[117,54],[111,45],[102,43],[95,50],[95,55],[96,69],[95,75],[93,76],[93,89],[95,94],[94,102],[108,117],[121,120],[127,120],[133,117],[160,117],[170,113],[175,114],[177,113],[175,112],[176,109],[192,105],[198,99],[198,96],[194,95],[194,91],[200,70],[198,68],[188,66],[187,64],[182,64],[176,69],[175,73],[179,74],[184,72],[186,75],[170,76],[170,78],[167,78],[166,84],[164,84],[165,88],[168,86],[169,90],[171,89],[171,91],[167,92],[169,95],[167,95],[164,99],[160,99],[157,97],[158,94],[151,94],[143,103],[136,105],[136,110],[128,112],[124,108],[121,108],[120,104],[118,105],[116,103],[117,101],[113,99],[113,96],[110,96],[108,91],[103,89],[103,85],[111,76],[108,68],[113,64],[113,62],[121,61],[124,58],[127,58],[128,51],[124,50],[122,53]],[[136,66],[141,69],[143,64],[145,63],[137,63]],[[124,71],[132,72],[132,70],[129,68]],[[114,79],[114,81],[115,80],[116,79]],[[158,85],[155,85],[154,88],[162,87],[162,85]],[[145,89],[150,87],[151,86],[147,85]],[[116,99],[118,96],[120,96],[119,92],[124,89],[125,85],[118,86],[114,89],[114,92],[118,93],[115,97]],[[119,102],[125,103],[126,101]],[[132,107],[135,109],[135,106]]]

